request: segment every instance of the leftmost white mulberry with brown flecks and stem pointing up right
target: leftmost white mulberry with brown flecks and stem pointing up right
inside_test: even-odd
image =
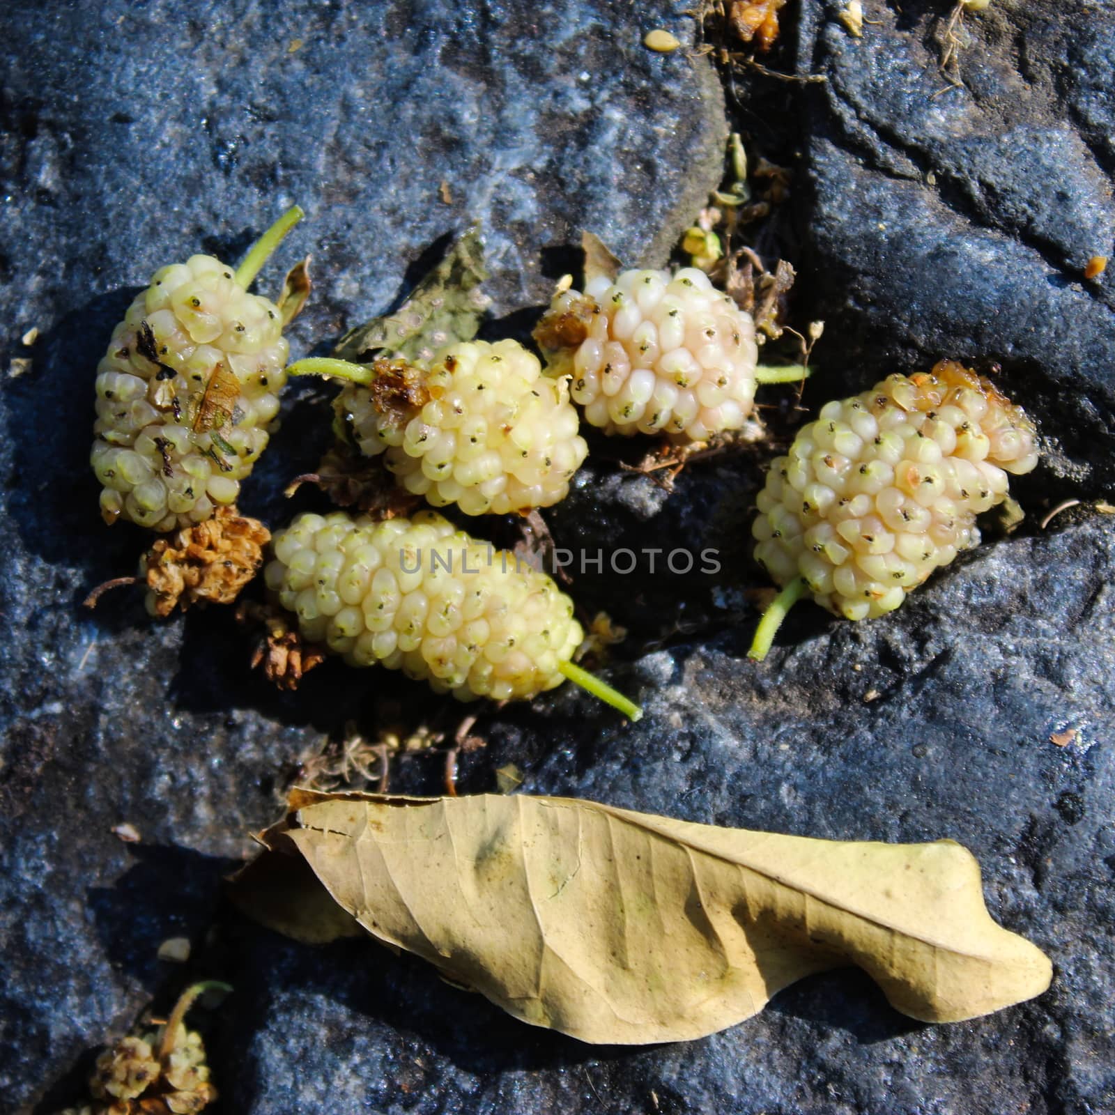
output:
[[[210,255],[162,268],[114,330],[91,454],[106,522],[173,531],[235,502],[287,379],[280,311],[246,287],[301,215],[285,213],[240,269]]]

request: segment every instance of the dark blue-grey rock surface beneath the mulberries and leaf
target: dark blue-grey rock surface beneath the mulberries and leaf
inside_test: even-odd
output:
[[[811,397],[943,355],[998,361],[1050,440],[1019,485],[1030,516],[883,620],[803,605],[758,668],[745,653],[763,579],[744,543],[765,450],[694,465],[667,496],[617,473],[622,450],[597,438],[547,517],[560,544],[604,551],[573,591],[631,629],[612,676],[648,715],[626,726],[566,690],[485,710],[488,746],[463,758],[460,786],[489,791],[514,763],[531,792],[689,820],[951,836],[983,865],[992,913],[1053,958],[1053,989],[929,1027],[834,972],[702,1041],[592,1048],[371,944],[310,949],[230,912],[221,875],[277,814],[300,754],[347,721],[374,731],[436,706],[452,729],[455,715],[336,665],[275,695],[220,610],[153,624],[134,597],[78,607],[144,543],[100,524],[86,465],[93,369],[132,291],[198,245],[236,255],[297,200],[309,220],[263,279],[273,289],[313,251],[297,353],[387,308],[473,216],[494,314],[515,313],[570,265],[582,225],[662,258],[717,177],[718,87],[640,46],[653,26],[688,33],[667,6],[17,3],[0,79],[6,1106],[65,1106],[89,1050],[153,997],[165,1008],[187,978],[223,977],[236,992],[210,1019],[211,1063],[220,1108],[249,1115],[1115,1109],[1115,518],[1078,507],[1037,525],[1067,496],[1107,494],[1115,458],[1115,279],[1079,279],[1111,246],[1115,18],[1083,0],[992,4],[966,17],[964,88],[932,98],[937,9],[872,10],[882,22],[854,40],[837,7],[803,6],[789,29],[801,70],[826,85],[737,77],[745,100],[782,107],[731,106],[748,137],[783,128],[782,151],[805,155],[785,252],[802,271],[797,323],[826,319]],[[329,394],[291,392],[245,484],[271,523],[290,513],[283,481],[317,460]],[[724,568],[621,578],[617,546],[709,546]],[[1068,729],[1067,746],[1050,741]],[[395,778],[436,793],[442,759],[408,758]],[[140,844],[112,833],[122,822]],[[183,934],[187,969],[158,961]]]

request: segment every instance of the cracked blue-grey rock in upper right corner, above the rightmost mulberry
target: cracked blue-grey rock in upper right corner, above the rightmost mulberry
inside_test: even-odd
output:
[[[998,363],[1041,414],[1047,467],[1103,488],[1115,425],[1115,16],[1087,0],[883,6],[864,37],[803,6],[809,278],[850,390],[942,356]],[[828,382],[825,385],[826,389]]]

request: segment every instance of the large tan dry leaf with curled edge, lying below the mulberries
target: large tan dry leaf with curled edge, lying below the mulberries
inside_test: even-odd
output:
[[[368,932],[584,1041],[701,1037],[849,963],[925,1021],[998,1010],[1051,976],[991,920],[952,841],[808,840],[525,795],[294,791],[290,807],[262,838],[297,847]]]

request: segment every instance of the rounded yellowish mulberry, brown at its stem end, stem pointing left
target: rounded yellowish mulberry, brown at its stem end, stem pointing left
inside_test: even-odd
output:
[[[385,455],[398,483],[435,507],[466,515],[549,507],[569,493],[589,452],[569,381],[542,375],[517,341],[450,345],[429,368],[300,360],[292,375],[356,378],[341,391],[361,453]]]

